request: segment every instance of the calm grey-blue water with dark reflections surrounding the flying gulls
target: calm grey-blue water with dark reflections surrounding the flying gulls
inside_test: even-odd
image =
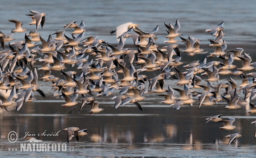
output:
[[[224,38],[228,48],[242,47],[246,52],[255,52],[254,46],[245,47],[255,42],[256,2],[241,1],[193,1],[186,0],[160,1],[125,1],[125,0],[94,0],[70,1],[54,0],[48,3],[43,1],[13,0],[3,1],[0,6],[1,23],[0,31],[9,33],[14,24],[9,19],[17,19],[24,23],[24,28],[32,31],[35,26],[27,23],[31,19],[25,14],[29,10],[47,13],[44,29],[39,29],[44,39],[60,29],[63,25],[73,20],[85,22],[87,30],[85,37],[98,36],[109,43],[117,43],[114,35],[109,32],[122,23],[133,22],[140,24],[140,29],[149,32],[157,25],[160,26],[156,33],[159,39],[157,44],[163,45],[166,40],[166,27],[164,22],[175,24],[180,21],[180,31],[183,36],[200,38],[204,46],[209,44],[211,37],[205,32],[213,26],[224,21]],[[15,7],[14,7],[15,6]],[[15,9],[14,9],[15,8]],[[4,16],[3,16],[4,15]],[[67,29],[66,34],[73,29]],[[23,40],[24,34],[14,34],[17,40]],[[127,43],[132,43],[130,39]],[[180,44],[180,43],[179,43]],[[230,44],[230,45],[229,45]],[[230,47],[229,47],[230,46]],[[244,47],[243,47],[244,46]],[[184,55],[184,57],[186,57]],[[204,56],[197,56],[198,60]],[[184,63],[189,60],[182,59]],[[39,72],[39,76],[42,75]],[[57,75],[55,73],[54,75]],[[151,74],[156,76],[158,74]],[[233,76],[234,77],[234,76]],[[227,80],[223,80],[224,83]],[[241,81],[237,80],[240,84]],[[37,101],[26,103],[16,112],[15,107],[10,107],[10,112],[0,110],[0,152],[3,155],[13,156],[8,152],[8,147],[19,147],[20,139],[26,132],[42,133],[58,132],[70,126],[88,129],[88,135],[80,138],[80,142],[73,140],[68,147],[74,147],[75,152],[18,152],[21,156],[47,157],[47,156],[89,156],[89,157],[253,157],[256,152],[255,127],[250,124],[256,120],[255,114],[247,114],[248,105],[242,109],[224,109],[226,102],[219,102],[216,106],[202,106],[198,103],[193,107],[182,106],[174,110],[169,105],[160,101],[163,97],[147,94],[141,102],[145,112],[141,112],[133,104],[113,108],[111,97],[100,97],[100,107],[105,109],[95,115],[89,115],[90,105],[85,105],[79,111],[79,105],[74,107],[61,107],[62,99],[52,96],[53,90],[49,89],[51,83],[41,83],[41,89],[47,94],[47,99],[36,95]],[[173,80],[166,80],[168,85],[175,86]],[[117,95],[118,93],[116,93]],[[243,96],[241,95],[241,101]],[[197,100],[197,99],[196,99]],[[254,101],[255,102],[255,101]],[[246,104],[246,103],[245,103]],[[12,109],[13,108],[13,109]],[[222,114],[222,118],[236,118],[232,131],[221,130],[222,123],[208,122],[205,118]],[[7,140],[9,131],[16,131],[19,135],[17,143],[10,144]],[[224,136],[241,132],[239,138],[231,146],[227,146],[228,139]],[[27,137],[26,140],[28,140]],[[60,132],[58,137],[36,137],[44,143],[66,143],[66,132]],[[15,153],[16,154],[16,153]]]

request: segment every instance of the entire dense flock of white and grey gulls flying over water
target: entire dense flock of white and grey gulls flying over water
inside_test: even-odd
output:
[[[175,26],[164,23],[166,27],[167,46],[159,48],[156,45],[159,26],[150,32],[144,32],[134,23],[125,23],[116,27],[116,39],[118,46],[112,46],[105,40],[97,39],[97,36],[84,37],[87,32],[84,21],[77,24],[76,21],[67,23],[62,30],[58,30],[49,35],[47,40],[41,37],[38,29],[44,28],[45,13],[30,11],[26,14],[31,17],[29,25],[36,25],[35,30],[26,33],[23,23],[19,20],[9,20],[15,23],[15,29],[10,34],[0,32],[0,43],[3,50],[0,52],[0,106],[8,111],[8,106],[16,106],[18,111],[23,103],[34,101],[34,92],[38,92],[42,97],[46,97],[39,89],[39,80],[52,82],[55,88],[54,96],[63,98],[65,103],[61,106],[75,106],[81,95],[81,108],[85,104],[90,104],[90,114],[101,112],[97,98],[110,96],[114,92],[119,94],[113,96],[115,100],[114,108],[127,103],[133,103],[143,112],[141,103],[146,99],[147,93],[156,93],[163,96],[161,103],[169,104],[174,109],[189,104],[190,106],[199,99],[199,106],[211,106],[219,101],[226,101],[226,109],[238,109],[239,93],[244,93],[244,100],[255,98],[255,77],[256,72],[246,73],[256,67],[256,62],[252,63],[251,57],[243,52],[242,48],[225,51],[227,44],[223,37],[224,22],[207,29],[209,32],[209,47],[213,52],[208,53],[200,49],[200,39],[180,34],[180,23],[176,20]],[[26,25],[25,25],[26,26]],[[70,33],[67,33],[67,32]],[[73,31],[73,32],[72,32]],[[23,33],[23,34],[22,34]],[[15,41],[13,34],[24,36],[24,41]],[[54,38],[56,37],[56,38]],[[134,43],[132,48],[125,48],[125,40],[131,39]],[[14,42],[15,41],[15,42]],[[38,43],[41,46],[38,46]],[[180,46],[185,45],[186,49],[181,50]],[[183,46],[184,47],[184,46]],[[197,60],[189,64],[183,64],[182,54],[198,55],[205,54],[203,60]],[[210,59],[211,58],[211,59]],[[207,62],[208,60],[208,62]],[[210,61],[211,60],[211,61]],[[234,60],[239,60],[242,67],[233,65]],[[186,62],[186,60],[183,60]],[[41,66],[36,69],[35,62],[40,62]],[[177,66],[183,66],[177,68]],[[77,68],[77,71],[68,71],[69,67]],[[135,69],[137,67],[137,69]],[[237,69],[237,71],[231,71]],[[44,76],[38,78],[38,70],[44,71]],[[62,78],[51,75],[52,71],[58,71]],[[143,72],[153,72],[154,78],[148,78]],[[120,75],[119,75],[120,74]],[[227,77],[226,83],[221,82],[219,76],[239,75],[242,84],[237,85],[233,78]],[[208,78],[202,81],[201,77],[207,75]],[[253,78],[247,78],[253,76]],[[165,89],[165,80],[174,80],[181,88],[168,86]],[[182,88],[183,87],[183,88]],[[117,93],[115,93],[117,94]],[[177,95],[179,94],[179,95]],[[250,103],[249,113],[256,112],[255,104]],[[221,107],[220,107],[221,108]],[[232,130],[234,118],[222,120],[221,115],[207,118],[207,122],[223,122],[220,129]],[[255,121],[252,122],[255,124]],[[67,131],[67,142],[75,136],[79,141],[79,136],[86,135],[87,129],[80,130],[78,127],[63,129]],[[226,136],[230,138],[228,145],[236,138],[241,137],[240,133]],[[255,133],[256,137],[256,133]]]

